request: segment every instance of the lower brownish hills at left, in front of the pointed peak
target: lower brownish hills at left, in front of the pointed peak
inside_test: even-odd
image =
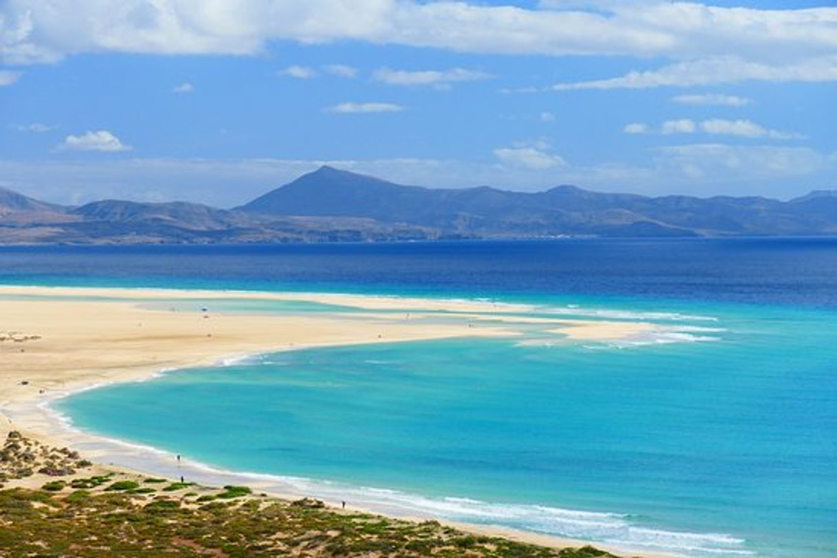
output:
[[[367,242],[437,234],[369,218],[257,215],[188,202],[62,207],[0,190],[0,244]]]

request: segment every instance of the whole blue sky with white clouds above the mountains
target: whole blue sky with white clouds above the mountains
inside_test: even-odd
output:
[[[0,0],[0,187],[837,189],[837,1]]]

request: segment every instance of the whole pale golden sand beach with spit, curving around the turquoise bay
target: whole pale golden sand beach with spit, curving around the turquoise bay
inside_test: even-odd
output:
[[[177,311],[141,306],[149,301],[175,299],[194,301],[195,306],[192,310]],[[312,317],[213,310],[213,302],[229,299],[307,301],[357,311]],[[516,323],[502,315],[525,312],[530,307],[497,305],[490,301],[177,289],[0,286],[0,310],[5,317],[3,328],[12,330],[5,332],[0,360],[0,393],[3,393],[0,435],[16,429],[54,447],[79,449],[96,463],[174,479],[187,472],[190,479],[210,485],[240,481],[242,474],[203,463],[176,463],[176,467],[167,469],[161,463],[174,464],[172,454],[84,433],[60,417],[50,404],[82,390],[117,382],[146,381],[167,371],[218,366],[223,361],[265,352],[464,336],[514,337],[520,335],[521,325],[531,324],[522,319]],[[401,312],[396,313],[398,310]],[[382,311],[392,314],[382,314]],[[406,317],[403,312],[408,312]],[[548,331],[555,335],[556,341],[618,341],[644,335],[655,327],[644,322],[566,318],[540,322],[552,328]],[[3,333],[0,331],[0,335]],[[248,484],[255,489],[268,488],[255,482],[258,479],[254,477],[258,475],[244,474],[244,477],[253,481]],[[265,490],[269,494],[282,499],[308,495],[304,483],[300,487],[288,482],[284,489],[277,488],[277,478],[293,479],[270,476],[273,489]],[[341,499],[327,501],[338,505]],[[411,517],[399,514],[398,509],[370,511]],[[430,516],[415,519],[430,519]],[[554,548],[587,544],[504,527],[446,523]]]

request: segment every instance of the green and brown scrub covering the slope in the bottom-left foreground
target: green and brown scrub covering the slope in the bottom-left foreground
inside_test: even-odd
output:
[[[0,453],[0,474],[11,485],[0,487],[0,555],[616,558],[590,546],[559,550],[437,521],[346,512],[312,498],[290,502],[244,486],[182,482],[158,491],[152,487],[164,479],[116,470],[61,475],[68,479],[37,472],[40,461],[59,455],[80,461],[9,434]]]

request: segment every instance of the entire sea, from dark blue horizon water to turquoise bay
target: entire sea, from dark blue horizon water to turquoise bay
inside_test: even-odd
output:
[[[287,351],[54,407],[357,505],[696,558],[837,556],[837,239],[0,248],[0,284],[490,299],[671,325]]]

